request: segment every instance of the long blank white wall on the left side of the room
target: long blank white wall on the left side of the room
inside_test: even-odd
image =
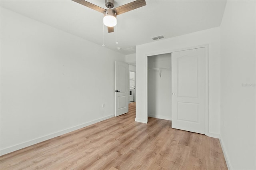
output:
[[[1,154],[113,117],[115,60],[125,56],[1,8]]]

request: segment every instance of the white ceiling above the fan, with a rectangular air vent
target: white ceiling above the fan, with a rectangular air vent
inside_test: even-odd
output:
[[[105,8],[104,0],[88,1]],[[116,0],[114,8],[129,2],[132,0]],[[153,42],[152,37],[163,35],[166,39],[220,26],[226,6],[226,0],[146,0],[146,3],[118,15],[118,28],[107,33],[102,13],[71,0],[1,0],[4,8],[90,42],[104,43],[124,55],[135,53],[136,45]]]

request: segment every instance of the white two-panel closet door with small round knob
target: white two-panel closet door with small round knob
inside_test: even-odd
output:
[[[205,134],[205,48],[172,53],[172,128]]]

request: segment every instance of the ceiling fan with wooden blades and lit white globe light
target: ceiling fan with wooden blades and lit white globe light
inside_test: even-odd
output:
[[[116,26],[116,16],[117,15],[123,14],[125,12],[131,11],[131,10],[134,10],[136,8],[140,8],[140,7],[146,5],[145,0],[136,0],[136,1],[130,2],[128,4],[124,4],[122,6],[118,6],[118,7],[114,8],[114,0],[105,0],[105,6],[108,9],[104,9],[104,8],[101,8],[101,7],[94,5],[90,2],[87,2],[85,0],[72,0],[72,1],[103,13],[104,14],[103,23],[105,26],[108,27],[108,33],[114,32],[114,26]],[[111,9],[111,8],[114,8],[114,9]]]

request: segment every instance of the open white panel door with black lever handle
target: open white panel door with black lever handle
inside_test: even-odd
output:
[[[129,71],[128,64],[116,61],[116,97],[115,97],[115,116],[128,113],[129,104]]]

